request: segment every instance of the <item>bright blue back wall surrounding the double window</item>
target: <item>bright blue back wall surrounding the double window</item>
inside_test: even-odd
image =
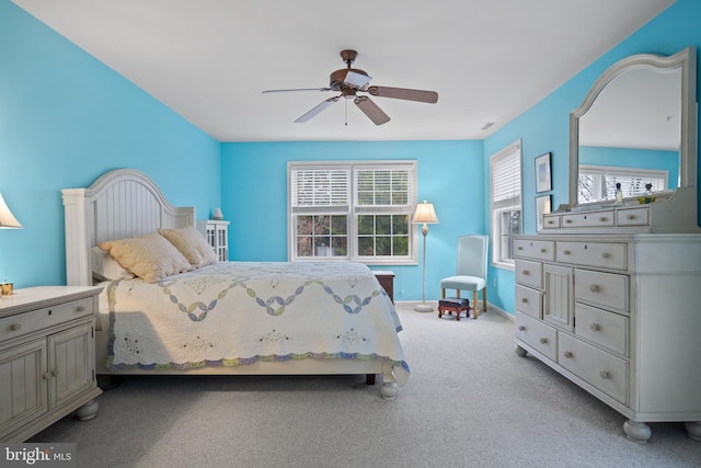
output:
[[[485,229],[482,155],[482,141],[225,144],[221,209],[231,221],[229,255],[231,260],[287,260],[287,161],[416,160],[417,198],[435,205],[439,221],[429,226],[426,238],[426,299],[437,299],[440,278],[455,274],[458,236]],[[397,300],[421,299],[422,263],[379,269],[394,272]]]

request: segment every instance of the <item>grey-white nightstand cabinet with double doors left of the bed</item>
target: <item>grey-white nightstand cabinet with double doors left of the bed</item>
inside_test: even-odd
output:
[[[101,290],[41,286],[0,297],[0,441],[22,442],[67,414],[96,415]]]

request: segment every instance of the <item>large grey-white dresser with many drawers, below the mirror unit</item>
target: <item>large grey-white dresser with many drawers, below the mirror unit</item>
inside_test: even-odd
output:
[[[520,236],[514,250],[516,352],[628,416],[631,440],[654,421],[701,440],[701,233]]]

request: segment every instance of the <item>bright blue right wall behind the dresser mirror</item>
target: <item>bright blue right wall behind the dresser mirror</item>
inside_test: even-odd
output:
[[[521,138],[525,233],[536,232],[535,159],[543,152],[552,152],[553,190],[550,193],[553,195],[553,206],[568,203],[570,112],[579,106],[599,75],[618,60],[634,54],[673,55],[685,47],[696,46],[698,55],[701,48],[699,21],[701,1],[677,0],[637,32],[484,140],[484,155],[489,158],[509,142]],[[701,89],[701,84],[697,83],[697,89]],[[489,173],[484,176],[489,187]],[[485,226],[490,229],[489,222]],[[492,278],[496,277],[499,285],[499,297],[492,299],[490,293],[490,299],[513,313],[514,272],[491,269],[490,275]]]

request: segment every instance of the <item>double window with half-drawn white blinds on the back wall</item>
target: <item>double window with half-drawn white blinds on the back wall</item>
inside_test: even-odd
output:
[[[414,161],[290,162],[289,256],[416,263]]]

